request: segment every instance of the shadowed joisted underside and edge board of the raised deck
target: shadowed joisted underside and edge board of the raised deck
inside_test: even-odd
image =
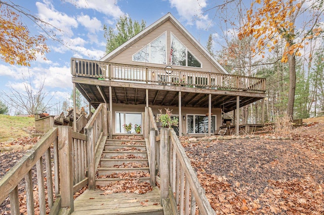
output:
[[[109,86],[113,103],[146,104],[146,89],[149,105],[178,106],[181,91],[182,106],[208,108],[208,94],[212,94],[212,108],[221,108],[225,113],[236,109],[236,96],[239,95],[239,106],[245,106],[265,97],[265,93],[254,93],[234,90],[215,90],[188,88],[169,85],[137,84],[128,82],[99,81],[87,78],[72,78],[77,89],[97,107],[100,103],[109,102]]]

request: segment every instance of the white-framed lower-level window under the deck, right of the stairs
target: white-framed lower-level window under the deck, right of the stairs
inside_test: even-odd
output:
[[[211,119],[211,133],[215,132],[216,117]],[[208,117],[204,115],[187,115],[187,132],[189,134],[208,133]]]

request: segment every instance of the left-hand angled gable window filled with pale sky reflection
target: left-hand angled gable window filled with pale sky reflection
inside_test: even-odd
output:
[[[166,33],[148,43],[144,48],[133,55],[133,61],[167,64]]]

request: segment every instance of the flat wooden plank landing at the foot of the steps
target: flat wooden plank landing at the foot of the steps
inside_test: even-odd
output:
[[[101,190],[86,190],[74,200],[74,212],[71,214],[163,214],[158,187],[145,194],[102,194]]]

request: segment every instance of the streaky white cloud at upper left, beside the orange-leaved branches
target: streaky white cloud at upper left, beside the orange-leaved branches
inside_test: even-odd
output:
[[[74,17],[58,12],[49,2],[36,2],[36,7],[38,17],[52,25],[47,25],[46,27],[53,30],[55,35],[73,36],[72,28],[77,28],[78,24]]]

